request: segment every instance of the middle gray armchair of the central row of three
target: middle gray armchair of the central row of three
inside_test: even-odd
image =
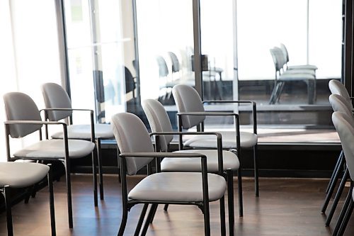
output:
[[[154,99],[147,99],[142,102],[142,108],[147,115],[149,125],[152,132],[157,135],[169,133],[169,135],[159,135],[155,142],[156,147],[159,147],[161,152],[169,152],[169,146],[173,140],[173,135],[205,135],[205,133],[195,132],[173,132],[171,121],[167,112],[159,101]],[[239,128],[238,128],[239,129]],[[220,141],[222,143],[222,141]],[[238,148],[239,150],[239,148]],[[212,173],[222,172],[225,179],[227,179],[227,193],[229,206],[229,235],[234,235],[234,186],[233,174],[239,170],[239,159],[234,152],[222,150],[218,147],[217,150],[178,150],[173,153],[200,153],[207,157],[207,171]],[[220,169],[219,169],[220,168]],[[197,159],[190,158],[166,158],[161,161],[161,172],[200,172],[200,163]],[[242,182],[239,180],[239,215],[243,215],[242,208]]]

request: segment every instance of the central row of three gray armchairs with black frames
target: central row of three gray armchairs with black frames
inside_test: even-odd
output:
[[[178,132],[173,132],[171,121],[164,106],[154,99],[143,101],[142,107],[152,128],[148,133],[144,123],[131,113],[118,113],[112,118],[113,130],[120,152],[122,178],[123,217],[118,235],[123,235],[127,215],[132,206],[143,203],[135,235],[145,235],[152,223],[159,204],[197,205],[205,220],[205,235],[210,235],[209,202],[219,201],[221,235],[226,235],[224,193],[227,190],[229,211],[229,235],[234,235],[234,189],[233,172],[238,173],[239,215],[243,216],[240,150],[257,143],[256,133],[241,135],[239,116],[236,113],[205,112],[198,92],[192,86],[173,86],[173,97],[178,109]],[[231,101],[229,101],[231,102]],[[238,101],[241,102],[241,101]],[[249,102],[256,108],[256,103]],[[228,135],[213,132],[183,132],[202,123],[205,116],[233,116],[235,131]],[[256,130],[256,128],[255,128]],[[245,135],[246,134],[246,135]],[[189,142],[182,142],[180,150],[169,153],[173,135],[193,135]],[[156,150],[152,145],[154,136]],[[215,137],[216,136],[216,137]],[[244,138],[243,141],[242,137]],[[248,138],[245,140],[245,137]],[[201,138],[201,139],[199,139]],[[252,139],[253,138],[253,139]],[[244,145],[242,146],[241,143]],[[185,149],[184,147],[187,147]],[[199,148],[198,148],[199,147]],[[134,158],[132,158],[134,157]],[[145,157],[145,158],[141,158]],[[202,161],[198,160],[201,158]],[[150,174],[127,193],[126,175],[136,174],[156,158],[156,173]],[[164,158],[160,160],[161,158]],[[148,169],[151,169],[148,168]],[[256,175],[256,177],[258,177]],[[226,181],[225,181],[226,180]],[[258,181],[256,195],[258,196]],[[147,208],[151,204],[148,215]],[[144,226],[142,225],[144,222]]]

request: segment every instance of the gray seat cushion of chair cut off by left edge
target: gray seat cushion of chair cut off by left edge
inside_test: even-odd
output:
[[[0,187],[24,188],[38,183],[49,172],[45,164],[0,162]]]

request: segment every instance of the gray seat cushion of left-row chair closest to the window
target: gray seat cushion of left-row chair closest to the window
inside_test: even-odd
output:
[[[79,140],[91,139],[91,125],[68,125],[67,126],[68,138]],[[95,137],[102,139],[113,138],[113,130],[109,124],[95,124]],[[63,138],[63,133],[55,133],[52,138]]]

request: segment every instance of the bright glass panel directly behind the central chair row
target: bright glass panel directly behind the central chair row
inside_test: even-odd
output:
[[[141,99],[158,99],[176,112],[172,86],[195,84],[192,1],[137,0],[137,32]],[[176,122],[174,114],[170,118]]]

